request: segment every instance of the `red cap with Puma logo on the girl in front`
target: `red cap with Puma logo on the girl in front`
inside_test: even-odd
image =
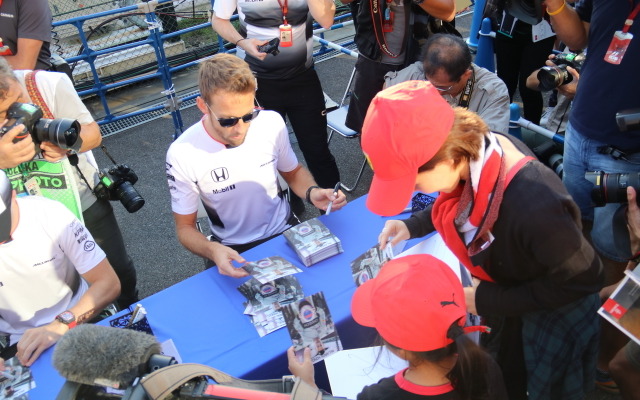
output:
[[[387,262],[363,283],[351,301],[357,323],[376,328],[388,343],[409,351],[430,351],[452,343],[456,321],[464,325],[462,284],[447,264],[418,254]]]

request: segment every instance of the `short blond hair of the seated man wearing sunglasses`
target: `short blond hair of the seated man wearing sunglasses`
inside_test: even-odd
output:
[[[249,93],[256,90],[256,78],[244,60],[226,53],[216,54],[200,65],[200,95],[208,103],[217,91]]]

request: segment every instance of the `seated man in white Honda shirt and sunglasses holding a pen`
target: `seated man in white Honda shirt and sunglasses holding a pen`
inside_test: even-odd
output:
[[[232,261],[289,227],[291,210],[282,197],[278,173],[300,197],[320,210],[346,204],[344,194],[319,188],[289,143],[284,120],[274,111],[255,109],[256,81],[247,63],[217,54],[200,65],[202,119],[167,152],[167,180],[178,239],[189,251],[208,258],[223,275],[246,276]],[[212,232],[196,229],[202,202]]]

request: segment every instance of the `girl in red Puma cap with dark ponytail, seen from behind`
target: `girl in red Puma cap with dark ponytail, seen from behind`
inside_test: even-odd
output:
[[[497,364],[463,328],[464,293],[444,262],[412,255],[387,262],[363,283],[351,302],[353,319],[375,328],[385,346],[409,367],[366,386],[358,400],[507,399]],[[287,352],[291,373],[315,386],[309,349],[300,362]]]

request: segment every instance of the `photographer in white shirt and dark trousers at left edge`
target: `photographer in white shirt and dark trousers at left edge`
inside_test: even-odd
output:
[[[33,90],[27,89],[29,85],[32,85]],[[78,168],[72,169],[72,180],[75,181],[79,190],[82,218],[118,274],[122,285],[118,306],[124,308],[136,302],[138,300],[136,270],[126,252],[113,208],[109,201],[98,199],[93,193],[98,170],[92,165],[95,161],[89,150],[100,145],[102,141],[98,124],[93,120],[65,74],[46,71],[37,73],[12,71],[7,61],[0,57],[0,124],[2,126],[7,123],[7,110],[16,102],[37,105],[42,103],[41,108],[47,107],[52,114],[50,117],[75,119],[80,123],[79,140],[82,141],[82,146],[78,154]],[[36,162],[32,160],[38,163],[54,163],[67,156],[67,150],[47,141],[40,144],[41,154],[36,155],[31,135],[25,135],[24,139],[13,143],[23,129],[21,125],[16,126],[0,138],[0,167],[6,170],[19,193],[25,191],[25,184],[30,180],[33,181],[32,178],[42,179],[42,173],[38,171],[35,167]],[[78,169],[89,184],[80,177]]]

